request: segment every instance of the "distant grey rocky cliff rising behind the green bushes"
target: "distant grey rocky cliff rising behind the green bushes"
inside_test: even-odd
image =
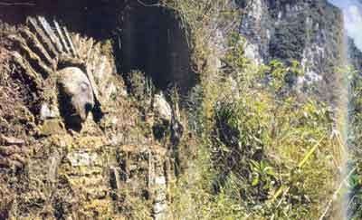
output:
[[[240,32],[249,58],[257,63],[297,60],[305,71],[298,79],[304,89],[317,82],[320,94],[333,92],[327,87],[345,59],[343,17],[337,7],[326,0],[254,0],[240,5]]]

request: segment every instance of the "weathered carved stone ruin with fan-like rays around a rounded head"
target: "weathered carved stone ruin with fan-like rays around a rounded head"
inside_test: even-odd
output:
[[[0,218],[167,219],[174,110],[153,86],[127,92],[110,41],[65,30],[2,31]]]

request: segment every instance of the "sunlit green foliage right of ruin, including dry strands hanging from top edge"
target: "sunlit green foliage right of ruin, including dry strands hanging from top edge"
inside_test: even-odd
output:
[[[209,13],[220,13],[213,7],[221,4],[168,3],[191,21],[200,39],[206,38],[202,25],[211,21]],[[284,31],[295,39],[304,30],[298,24]],[[197,59],[207,60],[209,45],[198,40]],[[202,81],[190,96],[190,119],[199,151],[175,188],[176,219],[319,219],[336,188],[341,146],[332,135],[329,106],[291,92],[303,74],[294,61],[303,48],[299,40],[276,43],[276,53],[295,43],[291,54],[281,54],[283,62],[255,66],[243,54],[243,38],[231,33],[222,70],[197,65],[203,66],[197,68]]]

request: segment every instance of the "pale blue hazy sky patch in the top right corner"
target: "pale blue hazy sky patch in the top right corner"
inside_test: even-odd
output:
[[[329,0],[343,10],[345,27],[348,35],[355,40],[362,51],[362,1],[361,0]]]

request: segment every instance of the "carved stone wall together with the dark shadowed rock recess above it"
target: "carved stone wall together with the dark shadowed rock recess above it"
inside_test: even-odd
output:
[[[195,81],[185,34],[166,9],[71,2],[0,22],[0,219],[167,219],[183,125],[166,88]]]

